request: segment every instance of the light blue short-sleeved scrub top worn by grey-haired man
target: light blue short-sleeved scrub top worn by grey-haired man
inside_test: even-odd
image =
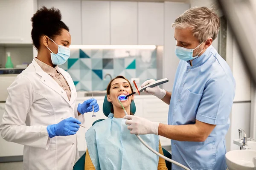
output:
[[[195,120],[216,125],[204,142],[171,140],[172,159],[191,170],[226,170],[225,136],[236,82],[227,65],[212,46],[190,62],[181,60],[169,107],[169,125],[195,124]],[[172,170],[182,170],[172,164]]]

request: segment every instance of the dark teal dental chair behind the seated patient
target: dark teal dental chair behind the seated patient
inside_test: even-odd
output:
[[[105,116],[108,117],[109,113],[111,113],[111,107],[112,107],[112,104],[111,104],[111,102],[108,102],[107,95],[106,95],[104,102],[103,102],[103,113],[105,114]],[[136,106],[135,106],[134,101],[131,102],[130,111],[133,114],[135,114],[135,112],[136,112]],[[105,120],[105,119],[96,120],[95,122],[93,122],[93,125],[102,120]],[[169,153],[167,150],[165,150],[163,147],[162,147],[162,149],[163,149],[163,155],[169,159],[172,159],[172,154]],[[73,170],[84,170],[85,154],[86,154],[86,152],[79,158],[78,161],[76,161],[76,164],[74,164]],[[172,170],[172,163],[169,161],[166,161],[166,167],[168,170]]]

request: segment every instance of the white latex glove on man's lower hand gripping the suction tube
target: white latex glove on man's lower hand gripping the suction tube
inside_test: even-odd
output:
[[[155,134],[158,135],[158,126],[159,122],[151,122],[145,118],[126,115],[124,119],[126,125],[129,125],[127,128],[131,130],[131,134],[136,135],[145,135],[145,134]]]

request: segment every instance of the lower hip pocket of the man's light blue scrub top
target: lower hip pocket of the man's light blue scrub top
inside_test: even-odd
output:
[[[215,137],[209,136],[204,142],[186,142],[186,159],[193,169],[213,170],[217,162]]]

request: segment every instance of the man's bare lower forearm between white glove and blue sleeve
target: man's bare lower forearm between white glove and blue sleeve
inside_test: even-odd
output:
[[[158,135],[177,141],[204,142],[204,133],[196,125],[165,125],[160,123]]]

